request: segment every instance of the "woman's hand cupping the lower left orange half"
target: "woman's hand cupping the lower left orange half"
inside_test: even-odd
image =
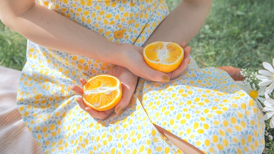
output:
[[[83,102],[82,97],[77,98],[77,102],[79,103],[79,106],[88,112],[90,115],[92,115],[93,118],[98,118],[101,120],[106,119],[113,113],[115,112],[120,115],[125,107],[129,105],[131,97],[135,91],[135,87],[137,84],[138,76],[134,75],[131,73],[129,70],[127,70],[124,67],[121,66],[115,66],[111,71],[109,71],[107,74],[114,75],[116,76],[120,81],[122,85],[122,99],[120,102],[115,106],[115,108],[106,110],[106,111],[96,111]],[[81,85],[84,86],[86,83],[85,79],[80,79]],[[78,87],[78,86],[71,86],[71,90],[74,90],[77,94],[83,95],[83,89]]]

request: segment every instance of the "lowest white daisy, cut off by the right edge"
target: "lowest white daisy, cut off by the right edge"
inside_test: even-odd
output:
[[[267,98],[264,102],[264,111],[266,111],[266,114],[264,114],[263,119],[268,120],[269,118],[272,118],[270,120],[270,128],[274,128],[274,100],[271,98]]]

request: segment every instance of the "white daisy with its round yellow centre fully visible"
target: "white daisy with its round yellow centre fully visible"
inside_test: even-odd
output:
[[[250,95],[250,97],[257,102],[257,105],[263,109],[263,106],[261,103],[264,103],[265,98],[265,89],[266,86],[260,87],[259,90],[257,90],[257,88],[255,87],[255,84],[252,84],[252,87],[250,86],[250,84],[246,84],[245,86],[243,86],[243,89]],[[262,96],[262,97],[261,97]]]

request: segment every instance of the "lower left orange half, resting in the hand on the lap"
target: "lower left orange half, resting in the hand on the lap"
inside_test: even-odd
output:
[[[96,75],[83,86],[84,103],[97,111],[115,107],[122,98],[121,82],[108,74]]]

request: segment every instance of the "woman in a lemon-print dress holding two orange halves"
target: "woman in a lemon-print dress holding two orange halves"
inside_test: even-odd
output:
[[[264,121],[252,99],[227,73],[190,61],[182,43],[210,6],[185,0],[169,13],[160,0],[1,0],[2,22],[28,38],[17,104],[44,152],[182,152],[160,133],[168,130],[206,153],[262,153]],[[154,41],[185,48],[179,68],[145,64],[142,46]],[[97,112],[72,85],[102,73],[120,79],[123,96]]]

